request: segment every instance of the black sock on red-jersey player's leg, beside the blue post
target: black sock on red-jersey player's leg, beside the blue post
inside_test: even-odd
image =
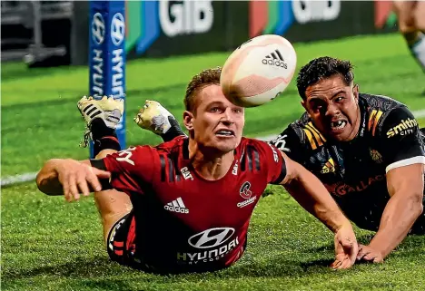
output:
[[[94,157],[102,150],[121,150],[116,131],[107,127],[102,119],[92,121],[90,131],[94,141]]]

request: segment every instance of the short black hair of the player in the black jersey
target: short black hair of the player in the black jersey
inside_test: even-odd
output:
[[[313,59],[310,63],[304,65],[298,73],[298,93],[302,99],[305,99],[305,91],[309,86],[336,74],[340,74],[345,83],[350,85],[354,79],[350,61],[343,61],[330,56]]]

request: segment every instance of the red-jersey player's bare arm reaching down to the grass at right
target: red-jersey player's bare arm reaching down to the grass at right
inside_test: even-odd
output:
[[[351,223],[321,181],[299,163],[282,153],[287,175],[282,185],[300,205],[335,234],[334,268],[348,268],[356,261],[358,244]]]

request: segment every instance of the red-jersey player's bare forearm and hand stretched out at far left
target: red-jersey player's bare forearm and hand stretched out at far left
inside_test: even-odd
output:
[[[93,168],[89,160],[52,159],[38,172],[36,184],[47,195],[64,195],[68,201],[80,199],[102,189],[99,179],[108,179],[108,171]]]

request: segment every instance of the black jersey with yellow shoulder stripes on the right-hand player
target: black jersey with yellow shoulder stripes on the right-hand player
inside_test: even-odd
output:
[[[327,141],[304,113],[271,143],[321,179],[352,222],[376,231],[390,199],[386,172],[425,163],[425,138],[404,104],[370,94],[360,94],[359,104],[361,127],[352,141]],[[413,231],[424,227],[422,214]]]

